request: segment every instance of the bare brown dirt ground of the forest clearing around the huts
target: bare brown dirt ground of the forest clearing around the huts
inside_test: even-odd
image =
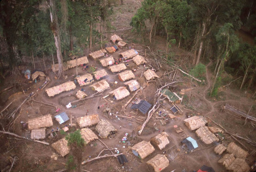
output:
[[[140,7],[140,3],[141,1],[132,0],[124,1],[124,5],[122,6],[117,5],[115,7],[116,13],[113,16],[113,18],[115,18],[113,20],[113,26],[115,26],[116,29],[129,28],[131,17],[136,12],[136,9]],[[119,49],[117,52],[112,54],[115,58],[118,58],[118,54],[120,52],[126,51],[130,47],[135,48],[136,50],[144,50],[142,44],[135,43],[136,41],[140,41],[139,38],[136,38],[138,35],[136,35],[135,33],[131,33],[130,30],[116,32],[115,34],[120,35],[124,41],[129,43],[127,47]],[[111,35],[112,33],[106,34],[106,36]],[[162,45],[165,44],[165,40],[159,39],[158,41],[162,43],[159,44],[159,47],[157,48],[163,49],[164,46]],[[109,45],[111,45],[111,43],[109,43]],[[178,51],[177,48],[174,49],[175,51]],[[179,52],[180,59],[182,59],[182,55],[183,53]],[[6,105],[8,105],[13,100],[14,101],[3,113],[3,116],[12,113],[16,109],[16,107],[19,106],[20,103],[22,103],[32,92],[37,93],[36,97],[34,98],[35,100],[50,103],[60,108],[60,111],[56,113],[56,108],[53,106],[28,100],[25,104],[22,105],[18,113],[16,113],[16,115],[14,116],[15,121],[13,124],[13,128],[12,130],[10,130],[10,132],[26,138],[29,137],[30,132],[27,129],[23,128],[22,122],[27,122],[28,119],[39,117],[42,115],[51,114],[53,117],[53,126],[51,128],[47,128],[47,133],[50,133],[51,130],[56,130],[57,127],[62,128],[66,125],[69,126],[70,121],[59,124],[56,120],[54,120],[54,116],[61,112],[66,112],[68,115],[72,115],[73,122],[76,121],[78,117],[86,115],[87,111],[88,115],[98,114],[100,119],[109,120],[118,130],[115,135],[112,135],[112,137],[107,139],[102,139],[102,141],[110,148],[117,148],[120,153],[123,153],[126,156],[129,162],[122,167],[118,164],[118,161],[115,158],[100,159],[83,165],[83,169],[87,171],[148,171],[146,161],[150,160],[157,154],[163,154],[163,152],[165,152],[169,160],[169,166],[162,170],[164,172],[172,171],[174,169],[176,169],[177,171],[182,171],[183,169],[185,171],[193,171],[198,170],[202,165],[211,166],[215,169],[215,171],[225,171],[225,167],[218,164],[217,162],[221,158],[221,156],[214,153],[216,143],[210,145],[204,144],[196,136],[195,132],[189,131],[183,123],[183,120],[186,119],[189,115],[202,115],[205,117],[209,117],[225,127],[226,130],[230,133],[238,134],[244,138],[248,137],[253,141],[256,140],[254,125],[252,125],[250,122],[247,122],[246,125],[244,125],[244,119],[238,119],[221,111],[222,106],[226,103],[229,103],[248,112],[251,104],[255,103],[253,99],[249,98],[248,94],[239,90],[228,88],[227,90],[220,90],[220,99],[208,98],[207,95],[211,86],[210,81],[212,78],[211,72],[209,71],[211,62],[206,64],[207,71],[205,84],[199,84],[196,81],[192,81],[191,83],[190,79],[181,73],[178,73],[174,78],[174,80],[176,81],[182,81],[177,83],[176,87],[171,89],[174,92],[178,93],[181,89],[189,89],[191,87],[196,88],[192,90],[191,93],[186,92],[183,96],[183,102],[179,105],[183,110],[183,114],[176,115],[175,119],[170,120],[169,123],[167,123],[166,125],[162,125],[160,120],[156,118],[157,113],[159,113],[160,111],[167,114],[171,113],[169,111],[171,104],[167,101],[167,99],[165,99],[163,101],[163,105],[160,106],[160,109],[157,111],[157,113],[155,113],[150,121],[147,123],[142,134],[138,135],[138,131],[141,126],[140,123],[142,123],[143,121],[140,121],[140,123],[138,123],[138,121],[134,118],[133,120],[126,120],[125,118],[115,116],[115,114],[129,115],[132,103],[127,105],[125,114],[121,111],[121,109],[122,105],[125,104],[132,97],[134,92],[131,92],[130,96],[125,97],[124,99],[119,101],[114,100],[110,96],[103,99],[102,97],[108,95],[110,91],[114,90],[115,88],[121,87],[123,85],[123,82],[121,82],[118,79],[118,76],[116,74],[113,74],[109,69],[103,68],[98,61],[94,61],[91,58],[88,59],[89,65],[97,67],[97,70],[106,70],[106,72],[108,73],[106,80],[110,83],[111,89],[104,91],[100,96],[93,97],[76,104],[72,104],[77,105],[76,108],[67,109],[65,105],[67,105],[70,101],[76,100],[75,93],[78,90],[84,89],[85,93],[89,96],[94,94],[95,92],[90,89],[90,85],[83,87],[79,87],[79,85],[77,85],[75,90],[64,92],[54,97],[48,97],[45,93],[45,89],[42,91],[38,90],[38,88],[42,85],[44,81],[39,81],[37,83],[31,82],[31,79],[28,80],[24,78],[22,74],[19,75],[18,73],[15,73],[9,78],[6,78],[4,84],[1,85],[0,91],[4,90],[10,85],[15,84],[15,87],[9,91],[1,93],[0,110],[3,110]],[[147,60],[148,63],[146,67],[150,67],[148,65],[151,65],[157,69],[156,73],[159,76],[162,76],[164,74],[164,70],[158,68],[153,59],[148,57]],[[133,101],[136,98],[140,98],[153,104],[155,92],[159,88],[158,81],[146,83],[144,76],[142,75],[141,77],[141,73],[145,71],[145,68],[143,66],[137,67],[133,61],[127,62],[127,64],[127,69],[136,69],[136,72],[134,72],[136,79],[141,85],[145,86],[145,89],[143,89],[142,92],[139,92],[138,95],[134,97]],[[74,80],[74,75],[76,75],[75,68],[66,71],[65,74],[68,76],[68,78],[65,81],[62,81],[54,78],[56,74],[54,74],[50,70],[50,65],[51,63],[49,62],[47,75],[49,76],[51,81],[47,85],[46,89],[69,80]],[[83,71],[82,67],[78,67],[78,75],[86,74],[87,72],[88,71]],[[118,81],[118,83],[115,84],[115,81]],[[95,82],[96,81],[94,81],[94,83]],[[23,91],[25,92],[23,93]],[[100,105],[104,106],[98,109],[98,106]],[[103,110],[106,107],[109,107],[111,109],[111,112],[114,113],[114,115],[112,115],[109,119],[107,119],[103,113]],[[256,110],[252,108],[249,115],[255,117],[255,114]],[[3,130],[3,128],[8,128],[7,124],[9,122],[9,119],[3,118],[3,116],[1,116],[1,130]],[[181,134],[178,134],[176,132],[176,128],[174,128],[174,125],[181,127],[184,131]],[[208,120],[208,125],[216,126],[210,120]],[[97,134],[95,126],[92,126],[90,128],[94,133]],[[70,127],[69,129],[70,130],[67,133],[72,133],[76,130],[76,128],[74,127]],[[159,150],[156,148],[156,150],[151,155],[143,160],[139,159],[132,153],[131,147],[134,144],[142,140],[150,141],[152,137],[155,137],[157,134],[159,134],[159,132],[162,132],[163,130],[169,135],[170,141],[170,143],[164,149]],[[135,132],[136,134],[134,140],[132,140],[131,138],[133,132]],[[123,143],[121,142],[121,139],[125,135],[125,133],[128,133],[129,135],[127,141]],[[187,153],[180,144],[181,141],[188,136],[195,138],[199,145],[199,147],[194,152],[190,153]],[[49,137],[49,135],[47,135],[47,138],[44,141],[52,144],[63,137],[65,136],[57,132],[57,136],[55,138],[52,139],[51,137]],[[234,141],[232,140],[232,138],[230,138],[229,135],[224,135],[224,137],[225,139],[223,140],[223,143],[226,145]],[[61,157],[51,146],[17,139],[13,136],[3,134],[0,135],[0,138],[2,140],[0,144],[0,169],[2,171],[7,166],[10,167],[14,157],[16,157],[16,160],[12,171],[61,171],[66,166],[69,155]],[[251,165],[255,160],[255,147],[251,146],[245,141],[241,140],[241,142],[249,148],[248,152],[250,156],[246,159],[246,161],[249,165]],[[241,146],[238,142],[236,142],[236,144]],[[90,142],[88,145],[83,147],[83,160],[97,157],[100,151],[104,148],[105,146],[98,140]],[[110,152],[108,151],[105,151],[104,153],[110,154]]]

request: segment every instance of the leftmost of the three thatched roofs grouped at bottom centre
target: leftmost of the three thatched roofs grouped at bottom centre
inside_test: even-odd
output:
[[[140,156],[141,159],[144,159],[146,156],[153,153],[154,150],[155,148],[152,146],[152,144],[146,141],[141,141],[132,147],[134,155]]]

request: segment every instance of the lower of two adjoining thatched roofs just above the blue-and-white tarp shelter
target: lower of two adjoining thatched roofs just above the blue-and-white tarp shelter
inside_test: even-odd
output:
[[[207,126],[202,126],[200,127],[197,131],[196,134],[198,137],[200,137],[200,139],[205,143],[205,144],[211,144],[215,141],[219,141],[220,139],[218,139],[213,133],[211,133],[208,129]]]

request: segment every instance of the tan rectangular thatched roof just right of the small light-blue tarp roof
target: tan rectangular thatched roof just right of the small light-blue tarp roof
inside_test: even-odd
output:
[[[80,128],[92,126],[99,122],[99,115],[94,114],[94,115],[86,115],[83,117],[79,117],[76,119],[76,122]]]

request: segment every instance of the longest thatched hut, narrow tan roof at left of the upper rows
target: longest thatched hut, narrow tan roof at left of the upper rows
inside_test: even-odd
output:
[[[74,90],[75,88],[76,88],[76,84],[72,81],[68,81],[68,82],[62,83],[60,85],[57,85],[55,87],[46,89],[46,93],[49,97],[53,97],[62,92]]]

